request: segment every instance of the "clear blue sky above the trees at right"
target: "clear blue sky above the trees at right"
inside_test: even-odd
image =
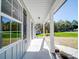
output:
[[[67,0],[66,3],[54,14],[54,21],[78,20],[78,1]]]

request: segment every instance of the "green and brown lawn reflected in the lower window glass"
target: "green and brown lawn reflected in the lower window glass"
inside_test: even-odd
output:
[[[2,46],[10,44],[10,35],[11,35],[11,43],[13,43],[21,37],[21,32],[13,31],[11,32],[11,34],[9,31],[2,32]]]

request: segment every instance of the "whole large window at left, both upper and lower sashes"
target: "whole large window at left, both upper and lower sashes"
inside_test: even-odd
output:
[[[17,0],[1,0],[1,12],[22,21],[23,11]],[[22,38],[21,23],[4,16],[0,19],[0,48]]]

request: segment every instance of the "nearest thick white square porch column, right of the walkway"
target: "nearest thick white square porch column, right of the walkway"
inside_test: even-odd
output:
[[[54,46],[54,21],[52,15],[50,17],[50,52],[55,53],[55,46]]]

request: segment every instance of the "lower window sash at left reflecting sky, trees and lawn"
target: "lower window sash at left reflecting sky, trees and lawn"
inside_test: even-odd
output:
[[[0,20],[0,48],[21,39],[21,24],[4,16]]]

